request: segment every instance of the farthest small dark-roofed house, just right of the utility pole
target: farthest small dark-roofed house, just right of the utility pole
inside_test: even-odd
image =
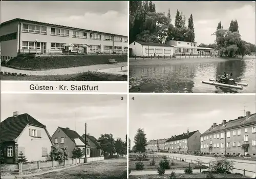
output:
[[[82,135],[82,139],[85,140],[85,135],[84,134]],[[98,140],[95,137],[90,136],[89,133],[87,135],[86,140],[87,140],[87,142],[90,146],[90,157],[101,156],[102,150],[99,149],[100,143],[98,142]]]

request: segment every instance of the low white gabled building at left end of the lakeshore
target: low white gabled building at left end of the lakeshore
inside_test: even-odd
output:
[[[129,45],[129,49],[132,49],[131,56],[170,56],[174,54],[174,48],[171,46],[160,46],[158,43],[156,45],[151,44],[141,44],[134,41]]]

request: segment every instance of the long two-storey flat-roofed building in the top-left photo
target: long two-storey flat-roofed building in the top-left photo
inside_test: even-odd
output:
[[[2,59],[19,53],[126,53],[127,36],[15,18],[0,25]]]

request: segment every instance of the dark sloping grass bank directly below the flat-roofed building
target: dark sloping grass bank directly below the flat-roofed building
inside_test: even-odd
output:
[[[9,60],[6,66],[20,70],[49,70],[94,64],[108,64],[109,59],[127,62],[127,55],[74,55],[30,57],[18,56]]]

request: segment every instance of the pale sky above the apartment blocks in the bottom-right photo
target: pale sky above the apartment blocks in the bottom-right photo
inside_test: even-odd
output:
[[[199,130],[203,133],[213,123],[255,113],[255,95],[130,95],[129,138],[134,146],[138,128],[147,140]]]

